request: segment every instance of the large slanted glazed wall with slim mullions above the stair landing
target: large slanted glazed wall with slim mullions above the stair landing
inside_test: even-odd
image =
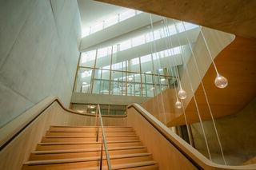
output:
[[[185,25],[186,30],[198,28],[190,23]],[[178,65],[176,61],[181,61],[182,49],[186,45],[159,51],[155,41],[184,32],[179,26],[181,23],[178,23],[177,31],[170,25],[168,34],[163,28],[149,28],[148,32],[118,44],[81,53],[74,91],[154,97],[162,90],[173,88],[177,77],[173,67]],[[139,45],[148,49],[146,55],[135,56],[136,53],[131,51]]]

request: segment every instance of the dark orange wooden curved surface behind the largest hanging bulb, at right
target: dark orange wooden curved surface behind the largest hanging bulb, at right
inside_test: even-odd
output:
[[[214,118],[238,113],[256,97],[255,56],[256,40],[237,36],[234,42],[215,57],[214,61],[218,71],[228,79],[229,85],[225,89],[218,89],[214,85],[216,73],[213,65],[210,65],[210,69],[208,69],[202,81]],[[201,85],[199,85],[194,95],[198,101],[202,120],[210,120],[209,109]],[[186,107],[186,117],[190,124],[198,122],[193,100]],[[168,125],[185,125],[184,117],[182,115],[176,117]]]

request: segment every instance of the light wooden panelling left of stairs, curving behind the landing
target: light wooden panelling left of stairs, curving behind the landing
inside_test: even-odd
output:
[[[24,121],[24,120],[23,120]],[[102,117],[105,126],[126,126],[126,117]],[[54,102],[0,152],[0,169],[21,169],[50,125],[94,126],[95,117],[70,113]]]

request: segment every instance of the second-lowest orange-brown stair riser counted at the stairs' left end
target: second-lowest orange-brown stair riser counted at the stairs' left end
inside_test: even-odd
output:
[[[136,148],[136,149],[124,149],[124,150],[110,150],[110,156],[122,155],[122,154],[133,154],[146,152],[146,148]],[[105,156],[105,152],[103,152]],[[72,153],[56,153],[56,154],[31,154],[30,160],[58,160],[58,159],[70,159],[79,157],[89,157],[89,156],[100,156],[99,151],[95,152],[72,152]]]

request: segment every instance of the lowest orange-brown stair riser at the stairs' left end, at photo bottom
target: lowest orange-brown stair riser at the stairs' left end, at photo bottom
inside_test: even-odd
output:
[[[112,159],[111,165],[115,164],[129,164],[141,161],[151,160],[151,156],[138,156],[138,157],[130,157],[130,158],[120,158],[120,159]],[[106,160],[102,162],[103,166],[106,165]],[[33,165],[33,166],[24,166],[23,169],[54,169],[54,170],[64,170],[64,169],[72,169],[72,168],[88,168],[88,167],[96,167],[99,165],[99,160],[95,161],[86,161],[86,162],[75,162],[75,163],[66,163],[66,164],[45,164],[45,165]]]

